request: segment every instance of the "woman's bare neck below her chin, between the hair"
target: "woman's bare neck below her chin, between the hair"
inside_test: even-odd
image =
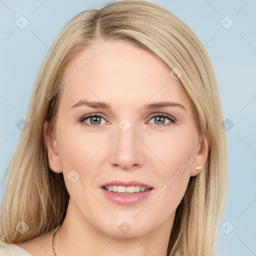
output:
[[[54,238],[56,255],[78,256],[84,252],[93,256],[166,255],[174,213],[160,226],[149,228],[150,231],[146,233],[141,232],[141,235],[136,236],[127,232],[125,236],[118,237],[95,228],[69,200],[65,219]]]

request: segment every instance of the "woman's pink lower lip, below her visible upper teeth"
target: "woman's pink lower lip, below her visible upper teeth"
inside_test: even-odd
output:
[[[101,187],[101,190],[103,191],[104,195],[114,203],[121,205],[132,205],[149,197],[154,189],[151,188],[144,192],[137,192],[133,194],[117,194],[112,191],[107,191],[103,187]]]

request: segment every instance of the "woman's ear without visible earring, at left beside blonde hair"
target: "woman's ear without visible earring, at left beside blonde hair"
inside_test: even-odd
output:
[[[56,138],[53,137],[52,133],[49,131],[49,122],[45,121],[43,124],[43,136],[45,141],[45,146],[48,155],[48,164],[51,170],[54,172],[62,172],[62,167],[60,163],[60,158],[58,155]]]

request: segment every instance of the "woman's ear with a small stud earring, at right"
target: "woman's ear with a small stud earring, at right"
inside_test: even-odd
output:
[[[196,170],[195,167],[202,166],[202,168],[204,168],[208,156],[208,142],[209,141],[206,134],[199,135],[198,144],[196,147],[197,158],[191,164],[190,176],[195,176],[201,171],[201,169]]]

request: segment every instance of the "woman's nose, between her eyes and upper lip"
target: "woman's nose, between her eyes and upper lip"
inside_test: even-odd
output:
[[[126,131],[117,127],[116,132],[110,144],[110,164],[122,170],[141,167],[146,146],[141,141],[138,132],[132,125]]]

